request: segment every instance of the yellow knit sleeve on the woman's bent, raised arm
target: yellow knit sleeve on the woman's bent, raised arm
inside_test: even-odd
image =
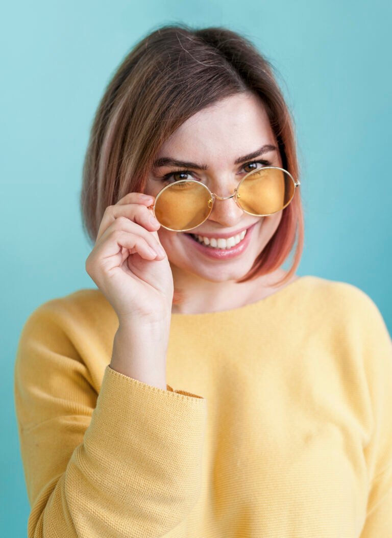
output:
[[[206,400],[109,365],[97,393],[50,305],[26,321],[15,363],[27,535],[163,536],[200,494]]]

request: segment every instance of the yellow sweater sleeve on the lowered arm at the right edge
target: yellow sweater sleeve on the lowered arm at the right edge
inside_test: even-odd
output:
[[[380,310],[362,294],[366,312],[358,342],[362,341],[372,429],[364,453],[368,466],[367,513],[360,538],[392,536],[392,341]],[[359,349],[359,348],[358,348]]]

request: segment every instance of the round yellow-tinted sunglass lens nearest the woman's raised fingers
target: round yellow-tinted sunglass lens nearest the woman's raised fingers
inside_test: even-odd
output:
[[[199,226],[211,213],[212,199],[203,183],[177,181],[157,196],[155,215],[171,230],[188,230]]]

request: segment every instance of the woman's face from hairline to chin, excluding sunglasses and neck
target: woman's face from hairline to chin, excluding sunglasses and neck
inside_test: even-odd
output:
[[[268,145],[276,149],[267,148],[262,154],[256,152]],[[249,157],[255,152],[254,157]],[[205,183],[216,195],[230,196],[243,176],[251,170],[263,166],[282,167],[263,103],[250,93],[227,97],[187,119],[165,141],[158,155],[158,159],[161,158],[192,162],[199,167],[165,165],[151,170],[146,194],[156,196],[167,184],[162,176],[176,172],[170,181],[196,179]],[[183,171],[186,174],[180,173]],[[236,280],[250,270],[258,254],[274,235],[281,218],[282,211],[268,217],[256,217],[244,213],[234,198],[216,199],[211,214],[197,228],[190,232],[175,232],[161,226],[158,236],[176,274],[181,272],[185,276],[191,273],[215,282]],[[227,233],[235,236],[253,224],[255,226],[250,230],[246,249],[239,256],[230,258],[208,256],[190,236],[190,233],[217,239]]]

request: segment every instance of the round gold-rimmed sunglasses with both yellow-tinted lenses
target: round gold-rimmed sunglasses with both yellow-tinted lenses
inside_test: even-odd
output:
[[[193,230],[207,220],[215,200],[234,197],[237,205],[248,215],[265,217],[281,211],[293,199],[300,185],[283,168],[265,166],[246,174],[231,196],[221,197],[193,179],[182,179],[166,185],[150,206],[159,224],[177,232]]]

